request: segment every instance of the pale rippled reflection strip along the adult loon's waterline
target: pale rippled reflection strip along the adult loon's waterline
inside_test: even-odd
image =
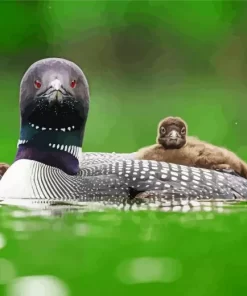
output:
[[[234,205],[234,206],[233,206]],[[240,206],[240,207],[238,207]],[[239,201],[197,201],[197,200],[179,200],[179,201],[166,201],[161,205],[157,205],[155,203],[137,205],[137,204],[127,204],[125,207],[116,208],[116,206],[111,207],[110,205],[104,205],[99,203],[87,203],[83,205],[44,205],[36,204],[33,207],[33,204],[26,203],[25,206],[9,206],[9,205],[1,205],[5,209],[11,208],[15,209],[11,210],[11,215],[15,218],[21,217],[62,217],[67,213],[88,213],[88,212],[104,212],[109,210],[117,210],[117,211],[160,211],[160,212],[211,212],[216,211],[219,213],[222,212],[231,212],[234,210],[245,210],[246,202]],[[1,238],[0,238],[1,240]],[[0,241],[1,242],[1,241]]]

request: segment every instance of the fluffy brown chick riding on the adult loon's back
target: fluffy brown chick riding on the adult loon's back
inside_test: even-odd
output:
[[[247,164],[233,152],[187,136],[186,122],[167,117],[158,125],[156,145],[141,149],[138,158],[213,170],[235,171],[247,178]]]

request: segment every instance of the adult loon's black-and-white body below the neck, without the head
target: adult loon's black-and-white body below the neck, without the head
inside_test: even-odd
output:
[[[37,161],[16,161],[0,181],[2,203],[146,209],[247,196],[246,179],[217,171],[135,160],[134,154],[82,153],[80,161],[84,167],[75,176]],[[148,195],[147,205],[138,203],[139,194]]]

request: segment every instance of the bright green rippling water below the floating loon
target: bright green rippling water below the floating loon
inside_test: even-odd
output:
[[[2,206],[0,217],[0,295],[218,296],[247,288],[245,204],[187,213]]]

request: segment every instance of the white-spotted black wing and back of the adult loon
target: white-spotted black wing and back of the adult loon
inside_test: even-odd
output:
[[[113,198],[116,194],[135,198],[139,193],[149,191],[161,199],[247,198],[247,180],[244,178],[165,162],[107,159],[82,168],[80,174],[84,178],[94,178],[98,193],[104,191]],[[97,197],[97,191],[93,195]]]

